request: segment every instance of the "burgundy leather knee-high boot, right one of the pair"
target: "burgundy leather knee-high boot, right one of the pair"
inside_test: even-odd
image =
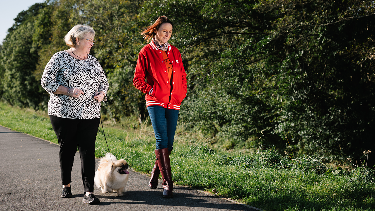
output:
[[[155,150],[157,165],[159,166],[160,173],[163,177],[163,197],[173,197],[173,182],[171,161],[169,160],[168,148]]]

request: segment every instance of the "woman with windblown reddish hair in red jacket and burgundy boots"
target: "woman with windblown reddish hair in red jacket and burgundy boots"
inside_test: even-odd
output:
[[[134,86],[146,94],[146,106],[156,138],[156,162],[148,186],[155,189],[161,173],[164,198],[172,197],[169,155],[181,101],[187,92],[180,51],[168,43],[172,29],[172,22],[162,16],[141,32],[143,38],[147,42],[151,39],[151,42],[139,52],[133,79]]]

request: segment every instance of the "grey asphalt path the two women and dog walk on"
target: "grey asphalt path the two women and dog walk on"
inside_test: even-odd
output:
[[[99,205],[83,203],[80,155],[72,170],[72,198],[61,198],[59,146],[0,126],[0,210],[75,211],[75,210],[256,210],[220,197],[174,185],[173,198],[162,197],[161,181],[156,190],[148,188],[149,177],[130,169],[124,196],[116,193],[94,194]],[[99,159],[97,159],[99,161]],[[96,165],[98,167],[98,164]]]

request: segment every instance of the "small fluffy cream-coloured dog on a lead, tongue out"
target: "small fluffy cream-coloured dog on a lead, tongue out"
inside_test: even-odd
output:
[[[129,178],[129,172],[126,170],[129,166],[126,160],[117,160],[113,154],[107,152],[99,163],[98,170],[95,172],[95,186],[98,189],[100,187],[102,193],[117,191],[117,196],[122,196]]]

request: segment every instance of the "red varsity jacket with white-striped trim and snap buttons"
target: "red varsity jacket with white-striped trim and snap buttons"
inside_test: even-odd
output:
[[[151,41],[139,52],[133,85],[146,94],[147,107],[161,105],[164,108],[180,110],[187,92],[186,72],[180,51],[176,47],[169,44],[166,54],[173,66],[171,81],[163,63],[162,52]]]

